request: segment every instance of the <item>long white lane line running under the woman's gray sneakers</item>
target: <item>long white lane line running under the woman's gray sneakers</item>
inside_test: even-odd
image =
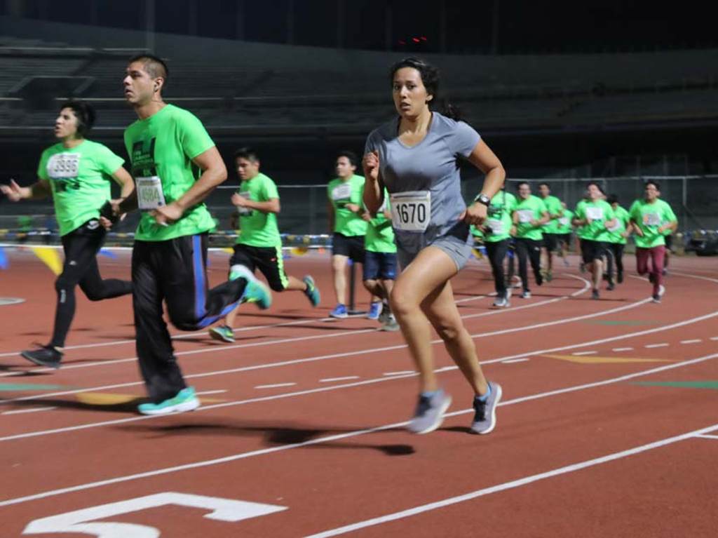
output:
[[[590,389],[595,386],[603,386],[603,385],[607,385],[607,384],[617,383],[620,381],[625,381],[627,379],[633,379],[635,377],[645,376],[645,375],[649,375],[649,374],[655,374],[656,372],[660,372],[663,370],[669,370],[672,368],[681,368],[683,366],[689,366],[689,365],[700,363],[703,361],[709,361],[710,359],[717,358],[717,357],[718,357],[718,353],[714,353],[713,355],[707,355],[707,356],[703,356],[703,357],[699,357],[699,358],[694,358],[689,361],[684,361],[681,363],[673,363],[673,364],[668,364],[666,366],[658,366],[657,368],[651,368],[650,370],[646,370],[643,372],[636,372],[635,374],[628,374],[626,376],[620,376],[617,378],[605,379],[604,381],[597,381],[595,383],[567,387],[566,389],[558,389],[558,390],[549,391],[549,392],[531,394],[530,396],[523,396],[521,398],[501,402],[499,405],[503,406],[503,405],[518,404],[521,402],[528,402],[528,401],[535,400],[535,399],[554,396],[556,394],[563,394],[563,393],[567,393],[567,392]],[[378,381],[386,381],[386,379],[379,379]],[[314,391],[317,391],[317,390],[315,389]],[[208,409],[210,407],[226,407],[226,404],[218,404],[216,406],[200,407],[197,410]],[[475,412],[475,410],[473,408],[462,409],[461,411],[447,413],[446,416],[447,417],[455,417],[460,414],[470,414],[473,412]],[[151,415],[143,416],[143,417],[136,417],[136,419],[151,419],[151,418],[154,418],[154,417],[152,417]],[[119,422],[127,422],[127,421],[126,420],[118,420],[118,421],[112,421],[112,422],[119,423]],[[237,453],[237,454],[225,456],[223,458],[215,458],[212,460],[202,460],[202,461],[197,461],[194,463],[185,463],[184,465],[175,465],[173,467],[149,470],[149,471],[145,471],[144,473],[135,473],[135,474],[126,475],[126,476],[118,476],[116,478],[107,478],[106,480],[102,480],[102,481],[95,481],[95,482],[90,482],[90,483],[85,483],[85,484],[79,484],[77,486],[69,486],[66,488],[43,491],[42,493],[34,493],[32,495],[27,495],[27,496],[17,497],[17,498],[9,498],[4,501],[0,501],[0,507],[1,506],[11,506],[14,504],[22,504],[27,501],[37,501],[38,499],[41,499],[41,498],[48,498],[48,497],[63,495],[65,493],[73,493],[75,491],[85,491],[85,490],[92,489],[92,488],[99,488],[102,486],[110,486],[111,484],[116,484],[116,483],[135,481],[135,480],[139,480],[140,478],[149,478],[151,476],[160,476],[160,475],[166,475],[169,473],[177,473],[182,470],[190,470],[190,469],[196,469],[196,468],[209,467],[210,465],[218,465],[221,463],[230,463],[233,461],[243,460],[246,458],[253,458],[255,456],[266,455],[266,454],[277,453],[277,452],[284,452],[284,450],[292,450],[294,448],[299,448],[299,447],[306,447],[306,446],[310,446],[310,445],[320,445],[325,442],[333,442],[336,440],[347,439],[349,437],[357,437],[358,435],[365,435],[368,433],[381,432],[384,430],[394,430],[396,428],[405,427],[407,424],[408,424],[408,422],[397,422],[395,424],[367,428],[365,430],[355,430],[353,432],[345,432],[345,433],[341,433],[341,434],[337,434],[337,435],[327,435],[326,437],[317,437],[316,439],[312,439],[312,440],[304,441],[304,442],[297,442],[297,443],[293,443],[292,445],[281,445],[278,447],[263,448],[260,450],[253,450],[251,452],[246,452],[246,453]],[[693,437],[695,435],[701,435],[703,433],[708,433],[708,432],[713,431],[714,429],[716,429],[715,426],[704,428],[702,430],[696,430],[694,432],[691,432],[689,435],[686,434],[686,438]]]

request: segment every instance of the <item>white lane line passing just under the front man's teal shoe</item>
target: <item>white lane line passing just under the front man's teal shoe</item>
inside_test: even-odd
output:
[[[715,317],[717,315],[718,315],[718,311],[712,312],[711,314],[708,314],[708,315],[695,317],[691,320],[684,320],[684,321],[681,321],[678,323],[673,323],[672,325],[664,325],[663,327],[656,327],[656,328],[652,328],[652,329],[640,330],[636,333],[628,333],[625,335],[611,336],[609,338],[602,338],[601,340],[592,340],[591,342],[584,342],[584,343],[580,343],[580,344],[563,345],[558,348],[541,349],[541,350],[533,351],[531,353],[519,353],[518,355],[509,355],[509,356],[504,356],[504,357],[498,357],[498,358],[491,359],[489,361],[482,361],[481,365],[484,366],[486,364],[500,363],[501,361],[505,361],[507,359],[520,358],[520,357],[523,357],[526,355],[544,355],[546,353],[555,353],[556,351],[566,351],[568,349],[580,348],[580,347],[587,346],[587,345],[596,345],[596,344],[602,344],[602,343],[606,343],[606,342],[612,342],[615,340],[623,340],[625,338],[631,338],[633,336],[642,336],[646,333],[655,333],[656,331],[659,331],[659,330],[663,331],[663,330],[670,330],[673,328],[683,327],[684,325],[689,325],[690,323],[697,323],[699,321],[707,320],[707,319],[709,319],[711,317]],[[360,355],[360,354],[364,354],[364,353],[366,353],[366,351],[355,351],[352,353],[340,353],[339,355],[340,356],[348,356],[348,355]],[[718,354],[716,356],[718,356]],[[332,357],[332,356],[329,356],[329,357]],[[713,357],[714,356],[709,356],[708,358],[713,358]],[[684,363],[677,363],[677,364],[681,365]],[[668,365],[667,367],[671,367],[671,366],[673,366],[673,365]],[[251,366],[248,368],[251,368]],[[653,370],[653,371],[658,371],[658,370]],[[652,371],[648,371],[648,372],[652,372]],[[202,375],[202,374],[197,374],[197,375]],[[383,381],[393,381],[394,379],[403,379],[404,377],[414,377],[417,375],[419,375],[419,374],[416,374],[416,372],[410,372],[409,374],[406,374],[405,376],[398,376],[398,375],[397,376],[388,376],[388,377],[382,377],[382,378],[378,378],[378,379],[369,379],[367,381],[356,381],[355,383],[327,386],[327,387],[322,387],[321,389],[309,389],[306,391],[287,392],[284,394],[274,394],[274,396],[263,396],[263,397],[246,399],[246,400],[238,400],[235,402],[223,402],[221,404],[205,405],[205,406],[197,409],[197,411],[208,411],[209,409],[216,409],[218,407],[230,407],[230,406],[236,406],[236,405],[252,404],[252,403],[256,403],[256,402],[267,402],[269,400],[291,398],[294,396],[304,396],[305,394],[314,394],[317,392],[333,391],[333,390],[337,390],[337,389],[348,389],[348,388],[355,387],[355,386],[363,386],[363,385],[368,385],[368,384],[381,383]],[[62,427],[62,428],[56,428],[55,430],[39,430],[36,432],[26,432],[26,433],[20,433],[20,434],[16,434],[16,435],[9,435],[6,437],[0,437],[0,442],[16,440],[16,439],[24,439],[26,437],[38,437],[40,435],[53,435],[56,433],[87,430],[89,428],[94,428],[94,427],[111,426],[111,425],[116,425],[116,424],[124,424],[126,422],[136,422],[138,420],[148,420],[148,419],[153,419],[153,418],[157,418],[157,417],[155,417],[153,415],[148,415],[148,416],[144,416],[144,417],[129,417],[126,419],[106,420],[103,422],[89,422],[87,424],[78,425],[78,426],[67,426],[67,427]]]

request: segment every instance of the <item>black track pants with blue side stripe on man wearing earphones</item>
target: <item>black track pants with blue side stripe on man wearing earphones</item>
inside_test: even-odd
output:
[[[206,233],[134,243],[136,350],[149,397],[155,403],[186,387],[162,317],[162,301],[175,327],[197,330],[233,310],[246,287],[245,279],[236,279],[208,290],[207,244]]]

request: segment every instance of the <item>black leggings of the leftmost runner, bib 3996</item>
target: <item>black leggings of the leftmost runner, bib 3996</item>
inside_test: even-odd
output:
[[[132,292],[131,282],[119,279],[103,280],[100,276],[97,253],[104,240],[105,228],[100,226],[95,218],[62,236],[65,263],[62,265],[62,273],[55,281],[57,307],[50,345],[57,348],[65,345],[67,332],[75,317],[75,287],[78,284],[90,301],[111,299]]]

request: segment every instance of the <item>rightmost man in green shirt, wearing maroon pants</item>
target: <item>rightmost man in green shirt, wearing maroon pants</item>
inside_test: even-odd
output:
[[[638,274],[648,274],[653,284],[653,302],[661,302],[666,291],[663,286],[663,258],[666,256],[668,233],[676,231],[678,219],[671,206],[661,200],[660,187],[655,181],[645,183],[644,196],[635,200],[628,214],[635,233],[635,262]],[[648,260],[651,259],[651,269]]]

